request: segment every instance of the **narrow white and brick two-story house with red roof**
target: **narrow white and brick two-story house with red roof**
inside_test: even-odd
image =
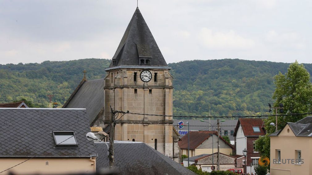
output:
[[[258,165],[260,154],[255,151],[254,142],[259,135],[265,135],[262,119],[240,118],[234,131],[236,154],[243,155],[247,149],[246,162],[243,160],[244,172],[255,173],[254,166]]]

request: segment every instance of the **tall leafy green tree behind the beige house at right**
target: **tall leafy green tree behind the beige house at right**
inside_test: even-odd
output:
[[[284,105],[284,113],[296,114],[307,113],[312,109],[312,84],[310,82],[310,74],[305,69],[303,64],[297,61],[290,64],[287,73],[279,73],[275,75],[276,89],[273,94],[275,99],[274,107],[279,104]],[[283,129],[287,122],[296,122],[304,118],[306,115],[298,116],[279,116],[277,121],[277,129]],[[260,152],[261,156],[270,157],[270,135],[275,132],[275,126],[270,123],[275,123],[275,116],[271,116],[264,120],[266,135],[260,136],[255,141],[256,150]]]

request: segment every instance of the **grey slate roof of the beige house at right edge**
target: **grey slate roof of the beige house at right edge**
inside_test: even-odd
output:
[[[312,137],[312,116],[307,116],[296,123],[287,122],[286,125],[289,125],[295,136]],[[281,131],[278,130],[270,136],[278,136]]]

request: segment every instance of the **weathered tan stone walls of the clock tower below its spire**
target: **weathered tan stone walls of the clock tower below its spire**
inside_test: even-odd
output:
[[[144,83],[140,79],[142,69],[117,69],[108,71],[105,77],[105,122],[110,121],[110,106],[116,111],[132,113],[173,115],[172,77],[166,69],[149,69],[152,78]],[[137,74],[134,82],[134,73]],[[154,75],[157,73],[157,81]],[[121,116],[122,114],[119,114]],[[144,142],[169,157],[173,157],[173,117],[125,114],[115,125],[115,140]],[[99,123],[99,122],[97,122]]]

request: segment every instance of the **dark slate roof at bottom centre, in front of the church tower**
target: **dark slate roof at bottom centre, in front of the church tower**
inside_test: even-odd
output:
[[[107,146],[95,143],[96,169],[108,168]],[[192,174],[192,171],[142,142],[115,141],[114,168],[123,174]]]

